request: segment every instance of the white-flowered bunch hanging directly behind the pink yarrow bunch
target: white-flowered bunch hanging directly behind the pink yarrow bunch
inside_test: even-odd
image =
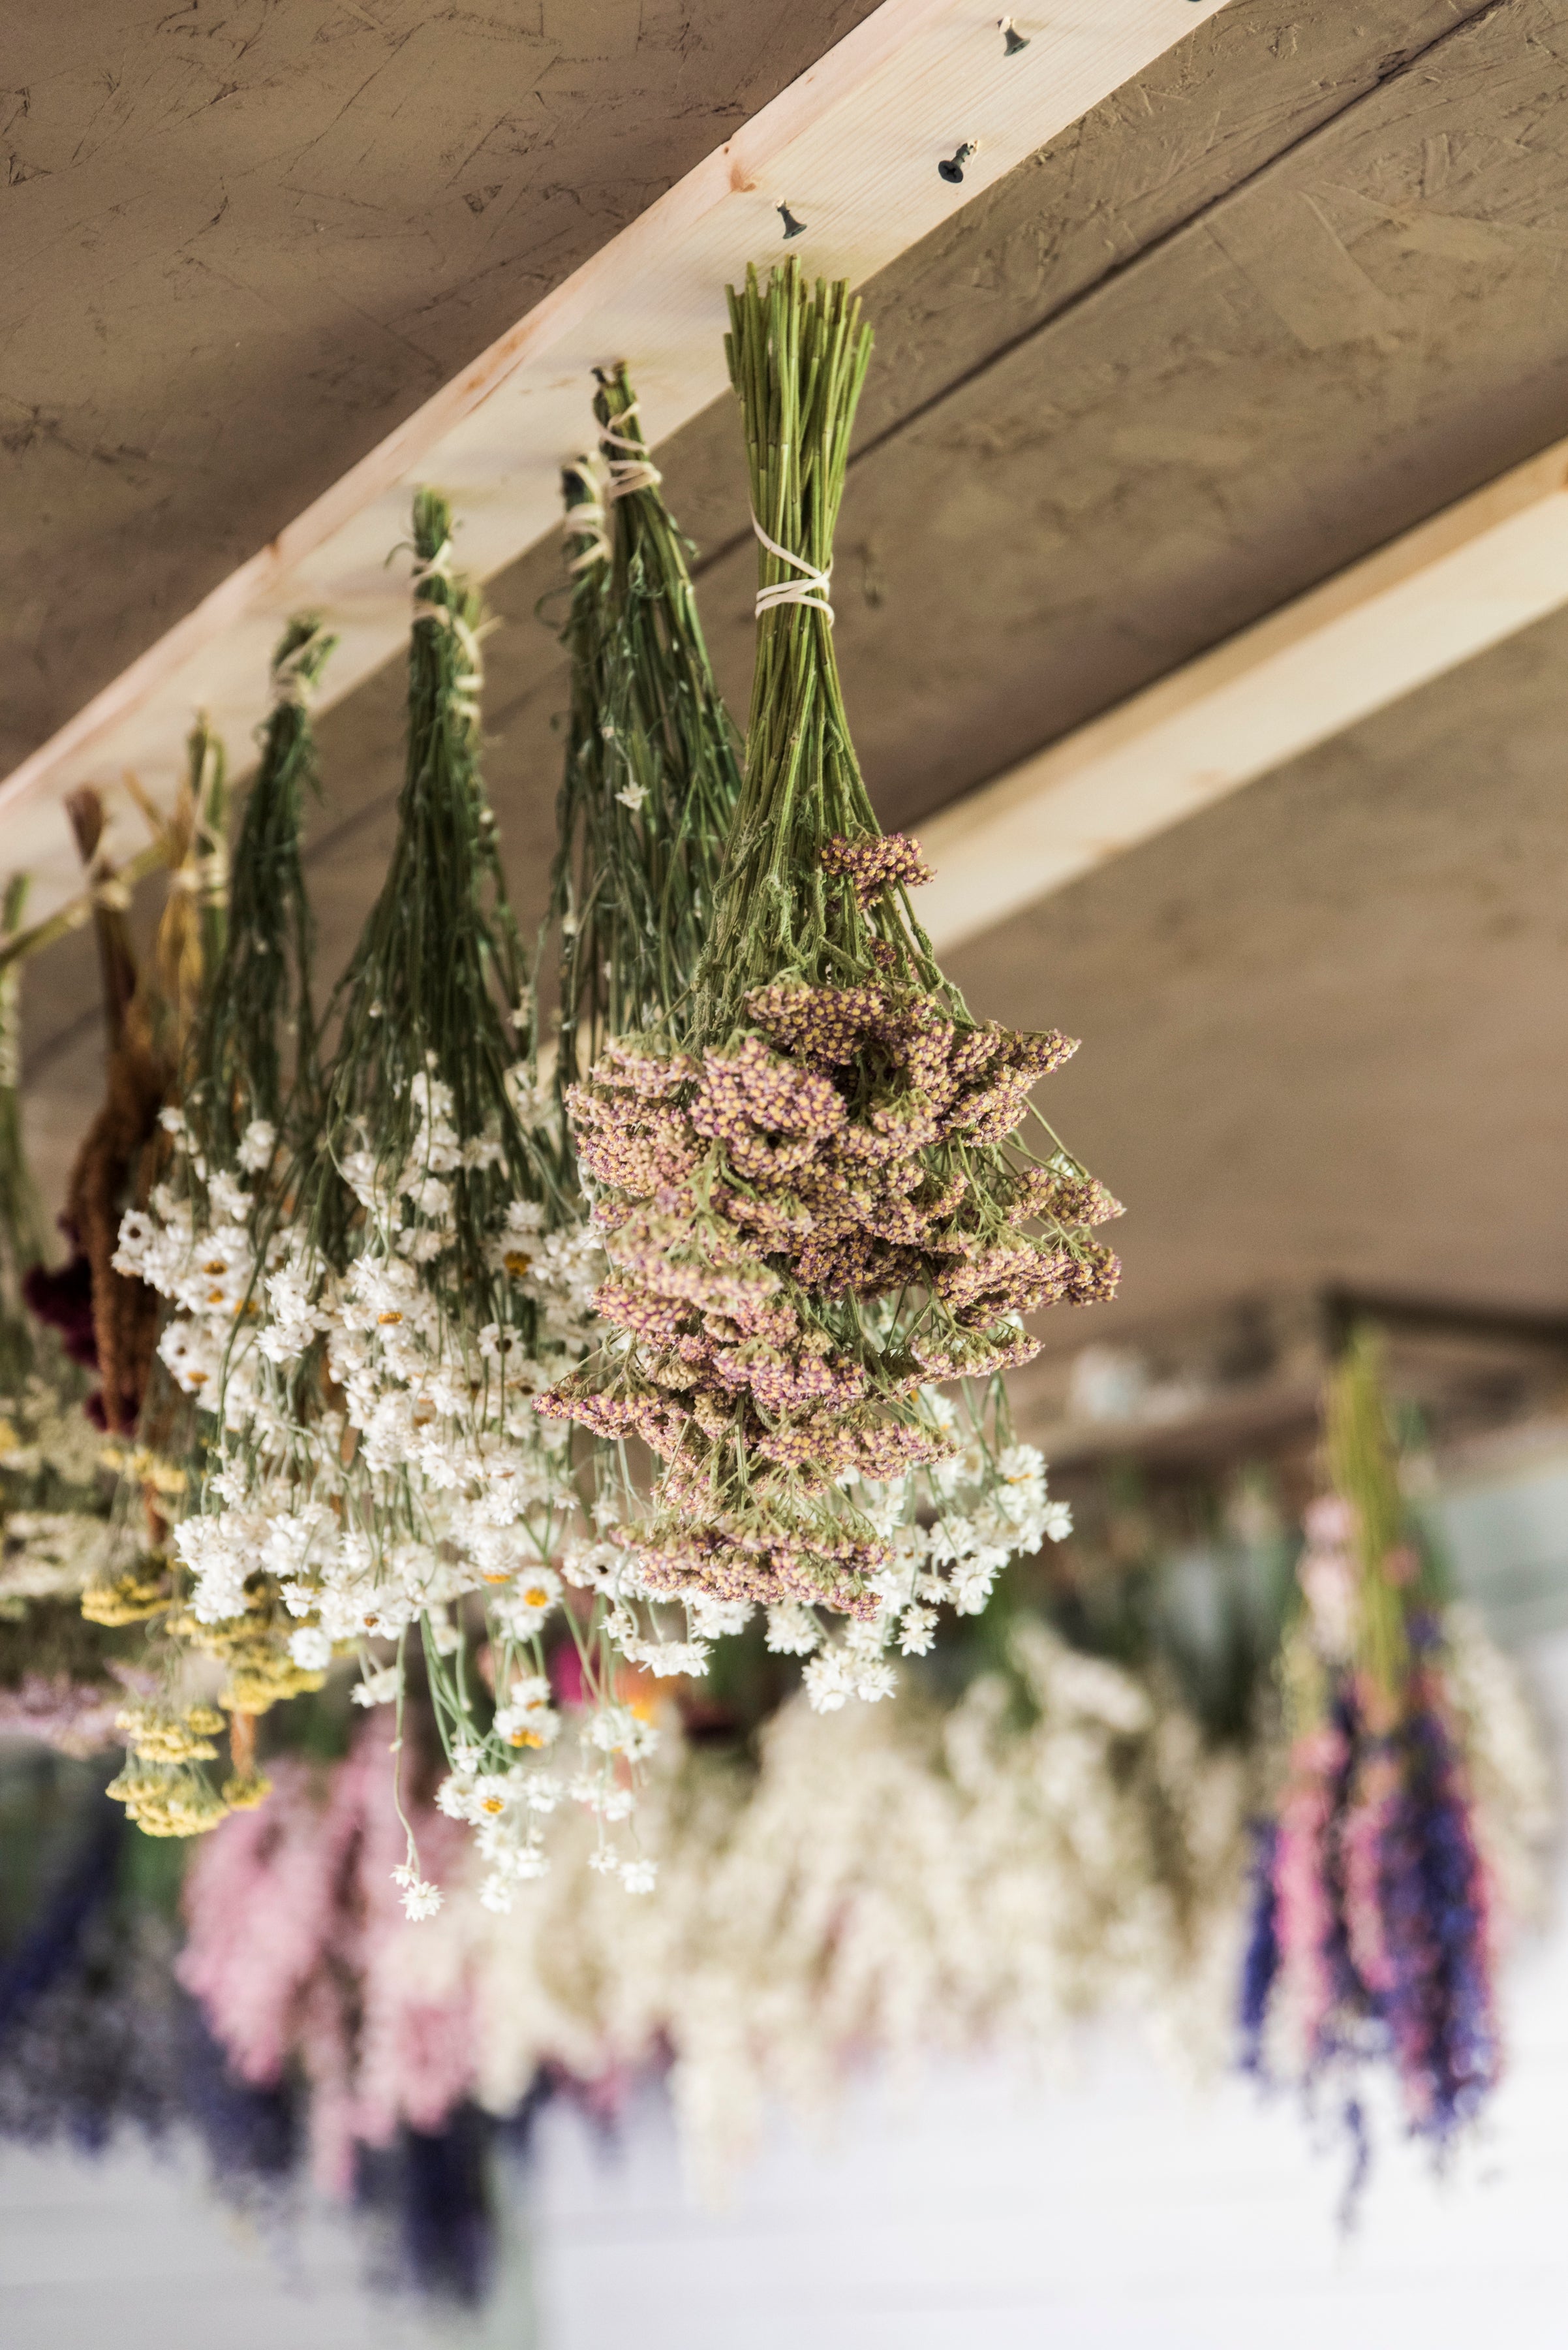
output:
[[[573,733],[561,799],[554,916],[563,938],[561,1060],[582,1076],[620,1034],[681,1039],[699,1018],[692,978],[709,942],[725,839],[739,806],[735,728],[723,710],[695,611],[685,540],[660,496],[624,369],[594,402],[601,458],[568,475],[573,555]],[[1045,1462],[1012,1438],[1000,1377],[948,1401],[922,1396],[951,1431],[948,1457],[892,1480],[845,1488],[901,1560],[904,1589],[930,1560],[948,1570],[955,1603],[979,1610],[1005,1560],[1066,1532],[1068,1511],[1045,1492]],[[617,1462],[620,1448],[610,1450]],[[622,1476],[617,1516],[641,1516]],[[622,1654],[653,1671],[704,1671],[711,1640],[744,1626],[749,1598],[676,1593],[674,1626],[622,1551],[610,1560]],[[671,1593],[662,1593],[664,1600]],[[922,1652],[934,1610],[901,1614],[906,1654]],[[883,1626],[826,1643],[812,1607],[782,1605],[775,1650],[805,1654],[812,1704],[885,1697],[894,1685]]]

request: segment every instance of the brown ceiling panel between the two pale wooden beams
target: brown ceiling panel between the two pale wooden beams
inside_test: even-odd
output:
[[[880,355],[836,604],[887,822],[1563,430],[1568,162],[1549,101],[1568,35],[1547,0],[1455,16],[1387,7],[1307,38],[1277,5],[1239,5],[871,289]],[[1275,242],[1279,296],[1261,266]],[[730,404],[662,463],[744,710],[756,557]],[[526,907],[552,841],[566,684],[538,613],[559,616],[559,580],[549,545],[493,588],[488,776]],[[324,726],[350,830],[319,870],[350,921],[373,886],[359,811],[397,787],[399,693],[387,672]]]

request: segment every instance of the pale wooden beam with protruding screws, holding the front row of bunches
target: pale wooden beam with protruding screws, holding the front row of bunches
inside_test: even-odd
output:
[[[559,524],[594,364],[631,362],[643,423],[664,439],[725,390],[723,289],[746,261],[789,249],[864,284],[1223,5],[1052,0],[1019,12],[1028,47],[1009,56],[995,0],[885,0],[0,785],[0,860],[33,872],[40,916],[75,888],[61,792],[92,780],[113,808],[129,766],[164,799],[197,710],[244,761],[291,613],[340,632],[326,703],[399,649],[406,559],[387,569],[387,550],[415,484],[451,496],[458,555],[491,578]],[[960,146],[972,153],[953,183],[939,162]],[[779,204],[803,223],[789,244]]]

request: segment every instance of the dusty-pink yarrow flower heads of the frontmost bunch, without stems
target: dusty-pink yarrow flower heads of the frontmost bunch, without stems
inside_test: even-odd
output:
[[[901,839],[822,862],[861,905],[925,879]],[[1120,1210],[1066,1154],[1005,1149],[1066,1036],[908,980],[779,978],[744,1013],[699,1053],[615,1041],[570,1090],[620,1337],[538,1410],[664,1462],[620,1537],[648,1591],[873,1617],[890,1549],[843,1485],[941,1459],[922,1389],[1028,1361],[1023,1314],[1110,1297],[1089,1231]]]

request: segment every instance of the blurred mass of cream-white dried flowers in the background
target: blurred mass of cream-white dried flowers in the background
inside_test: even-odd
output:
[[[387,1958],[427,1995],[472,1995],[495,2113],[540,2066],[613,2082],[671,2054],[711,2188],[770,2103],[810,2113],[866,2059],[1049,2056],[1115,2014],[1218,2066],[1258,1758],[1040,1624],[1014,1631],[1014,1664],[1023,1708],[1005,1676],[946,1713],[904,1694],[822,1718],[800,1697],[761,1772],[671,1739],[643,1795],[653,1901],[627,1915],[570,1871],[495,1915],[472,1882],[432,1943]],[[505,1819],[502,1791],[474,1791]]]

